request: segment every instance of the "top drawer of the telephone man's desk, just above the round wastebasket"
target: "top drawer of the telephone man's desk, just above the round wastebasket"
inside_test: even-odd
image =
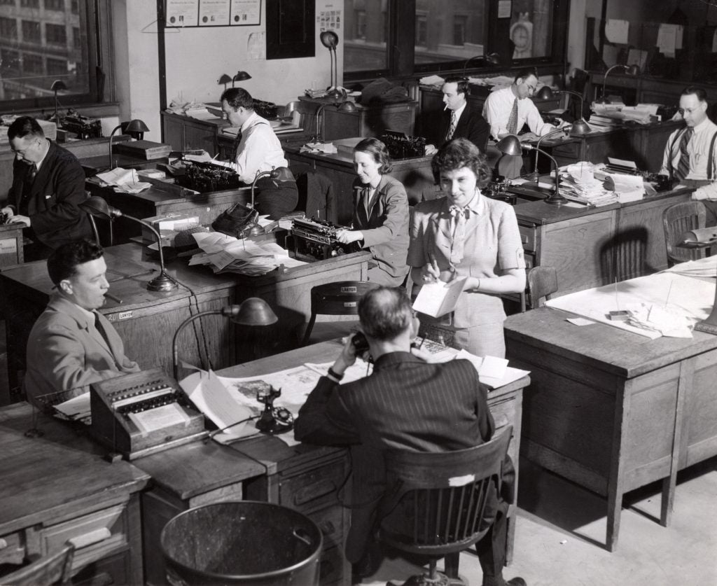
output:
[[[336,491],[345,480],[344,466],[333,463],[296,476],[282,478],[279,504],[297,511],[317,509],[336,502]]]

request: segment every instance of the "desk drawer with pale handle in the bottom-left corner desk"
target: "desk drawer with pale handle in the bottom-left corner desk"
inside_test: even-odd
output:
[[[40,531],[42,555],[55,552],[72,539],[75,557],[72,570],[128,549],[128,519],[125,505],[77,517]]]

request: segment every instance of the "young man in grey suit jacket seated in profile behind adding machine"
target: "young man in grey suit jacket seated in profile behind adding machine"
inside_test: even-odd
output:
[[[29,401],[140,370],[97,311],[110,288],[103,254],[93,242],[78,240],[61,245],[47,259],[54,293],[27,340],[24,389]]]

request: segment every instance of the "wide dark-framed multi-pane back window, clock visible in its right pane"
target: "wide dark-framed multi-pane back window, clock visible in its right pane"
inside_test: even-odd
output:
[[[345,0],[345,80],[457,72],[496,53],[501,67],[561,64],[569,0]],[[500,14],[500,18],[498,17]],[[486,67],[480,60],[473,67]]]

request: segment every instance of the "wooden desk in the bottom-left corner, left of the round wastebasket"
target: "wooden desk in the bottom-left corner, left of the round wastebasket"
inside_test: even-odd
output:
[[[32,427],[44,435],[25,437]],[[75,428],[27,403],[0,410],[0,444],[0,564],[46,556],[105,529],[75,550],[73,582],[143,583],[139,491],[147,473],[106,462]]]

